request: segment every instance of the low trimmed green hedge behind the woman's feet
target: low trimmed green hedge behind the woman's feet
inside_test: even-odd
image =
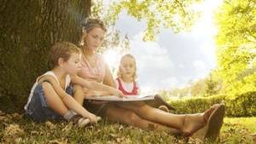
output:
[[[226,107],[225,116],[234,117],[255,117],[256,116],[256,92],[247,92],[242,95],[236,95],[235,99],[232,95],[212,95],[208,97],[191,97],[168,102],[177,110],[173,113],[196,113],[205,112],[208,107],[215,103],[224,103]]]

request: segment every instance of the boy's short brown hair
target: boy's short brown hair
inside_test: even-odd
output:
[[[50,51],[49,62],[50,66],[54,68],[59,66],[58,60],[62,58],[67,61],[73,53],[81,54],[79,47],[73,43],[59,42],[55,43]]]

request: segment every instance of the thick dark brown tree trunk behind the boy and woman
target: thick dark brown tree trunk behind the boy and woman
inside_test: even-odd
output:
[[[0,14],[0,106],[15,111],[25,105],[35,79],[49,70],[53,43],[79,42],[90,0],[2,0]]]

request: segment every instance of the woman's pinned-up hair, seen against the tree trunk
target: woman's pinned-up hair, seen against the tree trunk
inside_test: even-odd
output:
[[[105,25],[105,23],[98,19],[98,18],[87,18],[83,23],[82,23],[83,27],[83,32],[86,31],[87,33],[89,33],[93,28],[95,27],[99,27],[102,28],[102,30],[104,32],[107,32],[107,27]],[[84,42],[86,36],[84,36],[84,34],[82,35],[80,41],[79,41],[79,46],[83,47],[84,44],[86,44]]]

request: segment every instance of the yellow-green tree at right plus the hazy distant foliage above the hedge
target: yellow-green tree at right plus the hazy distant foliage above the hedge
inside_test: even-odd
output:
[[[171,96],[247,96],[256,90],[256,1],[224,0],[213,16],[218,32],[217,66],[206,78],[183,88],[165,89]],[[256,110],[254,110],[256,111]]]

